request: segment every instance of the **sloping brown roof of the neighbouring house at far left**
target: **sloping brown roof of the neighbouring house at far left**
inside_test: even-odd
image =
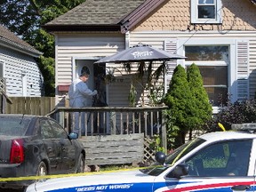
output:
[[[42,55],[42,52],[37,51],[33,46],[27,42],[20,39],[9,29],[4,28],[3,25],[0,25],[0,45],[11,47],[18,52],[23,52],[32,57],[39,57]]]

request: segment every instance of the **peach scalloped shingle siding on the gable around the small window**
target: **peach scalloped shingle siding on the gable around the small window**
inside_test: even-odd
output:
[[[221,0],[222,25],[190,23],[190,1],[169,0],[133,31],[256,30],[255,6],[249,1]]]

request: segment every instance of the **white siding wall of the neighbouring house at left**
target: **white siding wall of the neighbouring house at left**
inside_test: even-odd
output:
[[[43,76],[32,57],[0,46],[0,60],[4,62],[8,96],[23,96],[22,76],[24,75],[27,76],[27,96],[42,95]]]

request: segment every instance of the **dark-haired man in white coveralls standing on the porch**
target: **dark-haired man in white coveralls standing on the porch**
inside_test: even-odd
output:
[[[74,80],[72,84],[69,86],[68,90],[68,98],[69,98],[69,106],[72,108],[86,108],[89,107],[88,100],[92,99],[92,96],[96,95],[97,90],[92,91],[89,89],[86,84],[90,75],[87,73],[82,73],[79,78]],[[85,133],[85,120],[84,120],[84,112],[81,113],[81,134]],[[74,118],[73,118],[74,119]],[[79,132],[79,112],[75,112],[75,129],[74,132]]]

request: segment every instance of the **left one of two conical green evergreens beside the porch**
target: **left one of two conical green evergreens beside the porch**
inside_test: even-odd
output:
[[[177,126],[180,129],[178,145],[185,142],[185,135],[189,130],[189,118],[192,116],[193,107],[191,98],[192,94],[189,91],[185,68],[178,65],[174,69],[170,87],[164,97],[164,103],[170,110],[172,126]],[[172,132],[167,132],[167,134],[172,134]]]

